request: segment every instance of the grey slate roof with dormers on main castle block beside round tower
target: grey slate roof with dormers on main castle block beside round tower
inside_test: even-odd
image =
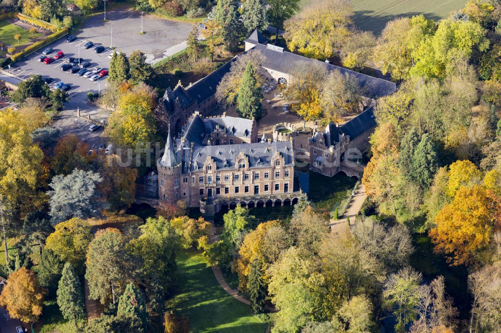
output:
[[[271,166],[272,157],[277,151],[284,156],[285,165],[293,165],[292,144],[290,141],[194,146],[190,170],[200,170],[207,160],[207,156],[214,159],[217,170],[235,169],[240,152],[248,156],[248,167],[250,168]]]

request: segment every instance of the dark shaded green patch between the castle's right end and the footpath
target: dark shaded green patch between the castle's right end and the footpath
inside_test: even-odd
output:
[[[332,177],[317,172],[310,172],[310,192],[308,198],[315,203],[320,213],[333,211],[335,204],[339,204],[355,186],[357,179],[348,177],[340,172]]]

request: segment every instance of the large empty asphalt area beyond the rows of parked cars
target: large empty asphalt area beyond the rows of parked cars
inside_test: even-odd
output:
[[[141,24],[144,34],[140,34]],[[89,16],[75,34],[114,47],[127,55],[140,49],[146,54],[147,61],[154,64],[184,49],[191,28],[189,23],[151,14],[143,14],[141,19],[140,11],[119,6],[106,12],[106,20],[104,13]]]

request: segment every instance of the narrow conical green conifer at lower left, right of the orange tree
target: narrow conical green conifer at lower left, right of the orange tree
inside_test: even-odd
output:
[[[59,280],[58,305],[65,319],[73,320],[75,326],[77,320],[85,316],[82,285],[71,262],[64,265]]]

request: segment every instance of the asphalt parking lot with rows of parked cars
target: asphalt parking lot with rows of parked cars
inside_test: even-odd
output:
[[[35,74],[40,74],[42,77],[52,77],[54,80],[49,84],[51,87],[54,87],[60,81],[63,81],[64,83],[71,85],[71,89],[68,91],[68,94],[72,99],[78,98],[82,102],[86,102],[87,92],[104,89],[107,84],[106,79],[102,78],[98,81],[91,81],[88,78],[79,76],[69,70],[62,71],[60,68],[64,63],[68,63],[66,61],[68,57],[80,57],[83,58],[83,61],[91,63],[88,67],[89,70],[92,70],[92,68],[96,66],[108,69],[111,61],[108,55],[112,51],[109,47],[103,45],[105,46],[105,50],[100,54],[97,54],[94,52],[94,47],[99,46],[100,44],[96,43],[91,48],[85,49],[84,44],[87,41],[89,40],[83,38],[77,38],[73,42],[67,42],[66,37],[58,39],[46,47],[30,54],[26,59],[16,62],[14,66],[10,68],[10,72],[17,75],[21,79],[26,79]],[[51,54],[48,54],[48,57],[54,57],[54,55],[56,55],[59,51],[64,52],[64,57],[56,59],[51,64],[45,64],[38,61],[39,57],[43,55],[42,52],[44,49],[49,47],[52,47],[54,51]]]

